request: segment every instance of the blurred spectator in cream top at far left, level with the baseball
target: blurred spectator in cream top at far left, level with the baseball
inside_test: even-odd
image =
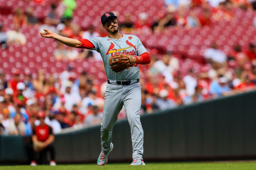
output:
[[[14,30],[8,30],[6,32],[7,35],[7,42],[10,44],[21,44],[25,45],[27,39],[23,33],[20,32],[19,24],[14,24]]]

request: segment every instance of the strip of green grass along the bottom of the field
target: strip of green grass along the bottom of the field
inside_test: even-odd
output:
[[[129,166],[129,163],[125,164],[107,164],[106,166],[97,166],[96,164],[79,164],[79,165],[57,165],[57,166],[0,166],[2,170],[94,170],[94,169],[106,169],[106,170],[127,170],[127,169],[147,169],[147,170],[221,170],[221,169],[256,169],[256,163],[146,163],[146,166]]]

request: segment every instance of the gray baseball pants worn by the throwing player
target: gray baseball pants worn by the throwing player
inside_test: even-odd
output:
[[[101,149],[104,153],[110,151],[112,128],[117,121],[117,115],[123,105],[132,135],[132,159],[142,159],[143,129],[140,123],[141,91],[140,83],[131,85],[107,84],[101,123]]]

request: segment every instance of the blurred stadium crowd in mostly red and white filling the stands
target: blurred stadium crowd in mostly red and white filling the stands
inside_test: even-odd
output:
[[[127,14],[125,21],[119,23],[121,33],[163,32],[168,27],[191,29],[211,26],[212,20],[232,20],[232,8],[256,10],[256,1],[253,0],[165,0],[165,5],[168,12],[156,16],[152,23],[148,22],[145,12],[140,13],[139,20],[135,22]],[[185,14],[187,8],[190,10]],[[202,9],[202,15],[197,16],[194,8]],[[72,24],[75,9],[75,0],[51,4],[51,12],[41,23],[42,18],[36,18],[31,7],[25,12],[16,8],[13,12],[14,29],[5,33],[2,31],[4,25],[0,24],[1,50],[7,50],[13,43],[26,44],[26,37],[19,31],[23,25],[40,25],[40,29],[47,28],[74,39],[107,35],[102,28],[83,28]],[[115,14],[118,16],[118,12]],[[256,16],[252,25],[256,28]],[[204,51],[200,70],[191,67],[185,74],[181,71],[177,54],[166,49],[148,48],[151,63],[139,65],[141,114],[255,89],[255,42],[247,46],[246,50],[242,50],[239,44],[235,44],[227,54],[218,49],[214,42]],[[57,43],[52,55],[56,60],[73,61],[90,57],[101,60],[96,51],[69,48],[61,43]],[[6,80],[4,70],[0,70],[0,134],[31,135],[32,129],[40,123],[37,120],[40,110],[44,111],[45,123],[52,127],[54,134],[68,127],[77,129],[86,124],[99,124],[106,82],[95,84],[89,72],[76,73],[73,69],[73,65],[68,65],[58,77],[53,74],[46,77],[44,69],[38,69],[36,77],[32,76],[30,70],[22,72],[15,69],[10,80]],[[118,118],[125,117],[123,108]]]

